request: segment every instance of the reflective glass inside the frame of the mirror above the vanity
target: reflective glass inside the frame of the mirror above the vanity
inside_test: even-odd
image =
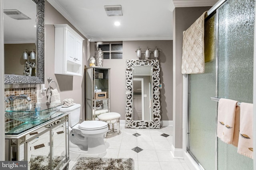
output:
[[[3,0],[3,4],[4,74],[37,76],[36,3],[32,0]],[[35,55],[31,55],[32,51]]]

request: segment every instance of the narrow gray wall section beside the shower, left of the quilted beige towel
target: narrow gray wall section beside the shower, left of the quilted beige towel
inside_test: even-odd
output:
[[[173,11],[173,145],[182,148],[182,94],[183,76],[181,74],[182,37],[188,29],[210,7],[175,8]]]

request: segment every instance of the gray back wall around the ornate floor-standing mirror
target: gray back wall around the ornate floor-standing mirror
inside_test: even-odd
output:
[[[125,69],[126,59],[138,59],[135,50],[161,49],[159,53],[160,59],[160,103],[162,120],[172,120],[172,41],[123,41],[123,59],[105,59],[104,67],[111,68],[110,80],[110,100],[111,111],[121,114],[121,120],[124,120],[125,115]],[[95,56],[95,43],[90,43],[90,56]],[[142,55],[144,59],[144,56]],[[150,54],[150,59],[154,59],[153,54]]]

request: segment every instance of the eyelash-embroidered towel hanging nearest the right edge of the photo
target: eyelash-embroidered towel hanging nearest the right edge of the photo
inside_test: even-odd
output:
[[[253,104],[240,105],[240,136],[237,152],[253,158]]]

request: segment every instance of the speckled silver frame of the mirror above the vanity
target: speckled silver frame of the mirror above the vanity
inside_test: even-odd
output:
[[[37,6],[37,76],[4,74],[5,84],[44,84],[44,0],[32,0]]]

